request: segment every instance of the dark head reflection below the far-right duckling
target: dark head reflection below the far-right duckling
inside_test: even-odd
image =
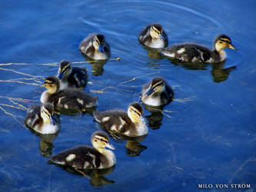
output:
[[[211,75],[213,77],[213,81],[215,83],[226,81],[230,72],[233,71],[235,68],[236,66],[224,68],[224,62],[213,64],[211,68]]]

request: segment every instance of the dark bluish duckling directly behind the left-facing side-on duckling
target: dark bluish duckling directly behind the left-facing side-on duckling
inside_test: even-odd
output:
[[[86,68],[76,68],[71,66],[69,61],[61,61],[58,67],[58,78],[61,81],[61,88],[85,88],[88,80]]]

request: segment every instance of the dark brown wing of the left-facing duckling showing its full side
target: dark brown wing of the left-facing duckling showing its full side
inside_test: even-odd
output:
[[[92,108],[97,104],[98,98],[76,89],[59,91],[55,97],[55,107],[81,110]]]

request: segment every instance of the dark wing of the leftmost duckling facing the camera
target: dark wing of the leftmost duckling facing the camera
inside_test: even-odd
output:
[[[30,105],[24,119],[25,124],[28,127],[35,127],[35,124],[38,124],[41,120],[40,106],[38,104]]]

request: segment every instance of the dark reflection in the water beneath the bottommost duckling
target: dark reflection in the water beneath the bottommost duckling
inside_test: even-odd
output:
[[[71,174],[77,174],[84,177],[88,177],[90,184],[94,186],[103,186],[105,184],[114,184],[115,180],[108,180],[105,175],[111,174],[115,170],[115,166],[105,169],[92,169],[92,170],[75,170],[73,167],[67,167],[59,165],[63,169],[67,170]]]

